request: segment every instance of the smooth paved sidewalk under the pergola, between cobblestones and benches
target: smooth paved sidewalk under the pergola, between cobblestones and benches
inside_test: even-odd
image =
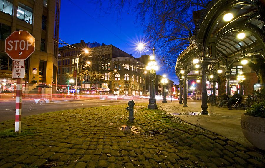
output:
[[[208,104],[209,115],[201,115],[201,100],[188,100],[188,107],[180,105],[179,101],[162,103],[163,110],[184,120],[188,123],[201,127],[203,129],[215,132],[223,137],[238,142],[246,147],[255,149],[244,137],[241,126],[241,114],[245,112],[243,108],[233,108],[228,110],[226,106]]]

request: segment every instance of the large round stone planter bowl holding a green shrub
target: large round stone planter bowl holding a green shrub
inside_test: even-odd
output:
[[[265,118],[241,115],[241,129],[246,139],[255,147],[265,150]]]

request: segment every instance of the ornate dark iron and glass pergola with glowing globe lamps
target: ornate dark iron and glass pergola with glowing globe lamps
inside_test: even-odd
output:
[[[232,18],[224,19],[228,13],[232,14]],[[218,78],[217,70],[222,69],[226,78],[226,88],[229,88],[230,72],[234,63],[243,59],[249,61],[247,64],[249,66],[255,65],[255,62],[264,62],[264,23],[265,2],[263,0],[209,2],[196,24],[195,33],[189,39],[189,46],[178,56],[176,62],[175,70],[180,79],[180,86],[183,82],[183,107],[187,107],[187,80],[196,79],[198,76],[193,75],[194,70],[199,69],[201,73],[201,113],[208,114],[207,75],[213,75],[213,86],[215,86]],[[245,37],[238,38],[239,33],[244,33]],[[193,63],[195,58],[199,60],[198,63]],[[195,68],[196,64],[200,67]],[[230,94],[229,89],[227,94]],[[213,96],[215,96],[215,87]],[[180,103],[182,104],[182,100]]]

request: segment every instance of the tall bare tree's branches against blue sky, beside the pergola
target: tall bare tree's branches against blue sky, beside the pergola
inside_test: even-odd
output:
[[[122,14],[136,14],[136,23],[143,27],[149,46],[155,46],[160,65],[168,72],[175,68],[177,56],[189,44],[194,33],[193,11],[206,8],[209,0],[145,0],[97,1],[101,11],[118,19]],[[108,4],[107,7],[103,7]]]

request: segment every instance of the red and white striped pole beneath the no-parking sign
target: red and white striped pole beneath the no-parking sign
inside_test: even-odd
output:
[[[22,81],[23,78],[17,78],[16,82],[16,119],[15,132],[21,132],[21,111],[22,111]]]

